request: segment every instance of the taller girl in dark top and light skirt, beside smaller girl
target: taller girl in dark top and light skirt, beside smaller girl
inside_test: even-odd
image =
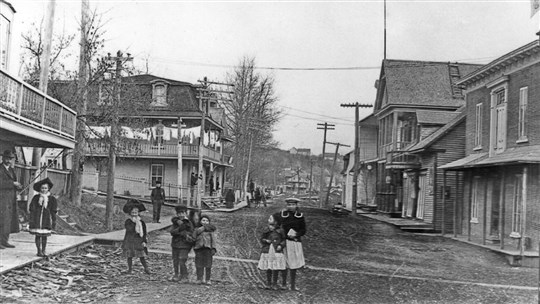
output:
[[[304,250],[302,248],[301,237],[306,234],[306,220],[304,214],[300,212],[297,198],[286,198],[285,202],[287,207],[282,211],[272,215],[274,220],[277,221],[281,229],[283,229],[286,241],[285,241],[285,259],[287,261],[287,268],[291,273],[291,290],[298,290],[296,286],[296,270],[304,267]],[[282,287],[287,286],[287,270],[283,271]]]

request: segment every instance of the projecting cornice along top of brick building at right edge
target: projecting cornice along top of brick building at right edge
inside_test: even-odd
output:
[[[464,74],[465,77],[458,81],[458,85],[467,85],[475,80],[485,78],[486,76],[499,71],[500,67],[505,67],[516,61],[516,59],[520,60],[538,52],[540,52],[540,44],[539,40],[536,39],[533,42],[527,43],[526,45],[491,61],[473,73],[468,75]]]

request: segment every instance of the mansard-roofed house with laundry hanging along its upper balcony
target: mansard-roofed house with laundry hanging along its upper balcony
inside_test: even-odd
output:
[[[197,187],[201,197],[219,195],[225,169],[231,167],[230,157],[223,154],[224,143],[231,141],[224,110],[215,101],[201,99],[199,85],[147,74],[123,81],[131,82],[139,90],[143,108],[137,112],[137,118],[142,118],[143,123],[129,125],[129,113],[120,119],[123,140],[117,153],[115,192],[149,196],[156,181],[161,181],[168,199],[177,200],[180,196],[184,202],[193,203],[197,191],[190,183],[195,173],[202,175]],[[89,101],[89,109],[99,107],[103,93],[101,88],[97,90]],[[108,143],[103,136],[108,135],[110,127],[88,129],[90,137],[95,136],[87,143],[83,187],[105,191]]]

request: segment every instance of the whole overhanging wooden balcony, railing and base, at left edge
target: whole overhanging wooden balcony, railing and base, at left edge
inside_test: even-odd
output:
[[[77,114],[0,69],[0,136],[15,145],[73,148]]]

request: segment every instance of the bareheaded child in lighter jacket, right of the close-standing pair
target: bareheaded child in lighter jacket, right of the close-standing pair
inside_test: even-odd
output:
[[[214,237],[216,227],[210,224],[207,215],[201,216],[200,224],[195,228],[195,268],[197,269],[197,283],[211,285],[210,276],[212,274],[212,256],[216,253],[216,243]],[[203,275],[206,272],[206,276]]]

